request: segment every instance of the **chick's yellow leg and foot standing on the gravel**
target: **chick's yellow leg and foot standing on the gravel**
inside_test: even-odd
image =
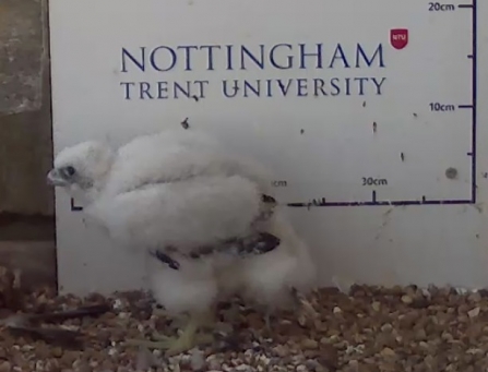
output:
[[[192,349],[202,344],[210,344],[213,341],[213,335],[198,334],[201,327],[209,325],[210,314],[192,314],[185,327],[182,334],[178,337],[167,337],[159,334],[154,334],[155,341],[144,339],[128,339],[128,345],[145,346],[152,349],[166,349],[166,356],[175,356]]]

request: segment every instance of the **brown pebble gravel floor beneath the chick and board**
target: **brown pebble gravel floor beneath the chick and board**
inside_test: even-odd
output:
[[[24,299],[24,312],[46,313],[93,303],[106,303],[109,311],[60,323],[83,334],[84,345],[75,348],[56,337],[46,343],[3,326],[0,372],[488,371],[488,295],[484,291],[355,286],[349,295],[323,289],[310,302],[318,310],[317,319],[307,323],[296,314],[279,314],[272,321],[272,332],[251,309],[238,303],[223,307],[223,319],[229,309],[239,309],[239,324],[218,325],[233,337],[168,359],[157,350],[122,344],[126,337],[143,337],[155,328],[176,332],[169,320],[151,315],[145,293],[79,299],[55,297],[45,289]],[[3,313],[3,317],[8,315]]]

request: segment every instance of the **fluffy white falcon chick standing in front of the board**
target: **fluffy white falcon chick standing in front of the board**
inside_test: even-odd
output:
[[[308,247],[274,199],[269,171],[203,133],[141,135],[118,149],[83,142],[56,156],[48,181],[115,241],[154,257],[154,298],[174,316],[189,314],[178,339],[144,343],[168,355],[209,338],[198,332],[221,299],[240,295],[273,311],[314,284]]]

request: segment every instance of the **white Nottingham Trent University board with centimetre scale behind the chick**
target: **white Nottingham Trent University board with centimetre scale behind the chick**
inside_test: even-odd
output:
[[[321,284],[488,285],[488,4],[49,4],[56,153],[186,122],[274,169]],[[62,191],[57,221],[62,291],[144,286]]]

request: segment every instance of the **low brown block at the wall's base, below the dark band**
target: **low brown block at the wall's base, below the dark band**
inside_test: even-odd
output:
[[[21,269],[21,286],[55,286],[57,281],[55,241],[0,241],[0,265]]]

